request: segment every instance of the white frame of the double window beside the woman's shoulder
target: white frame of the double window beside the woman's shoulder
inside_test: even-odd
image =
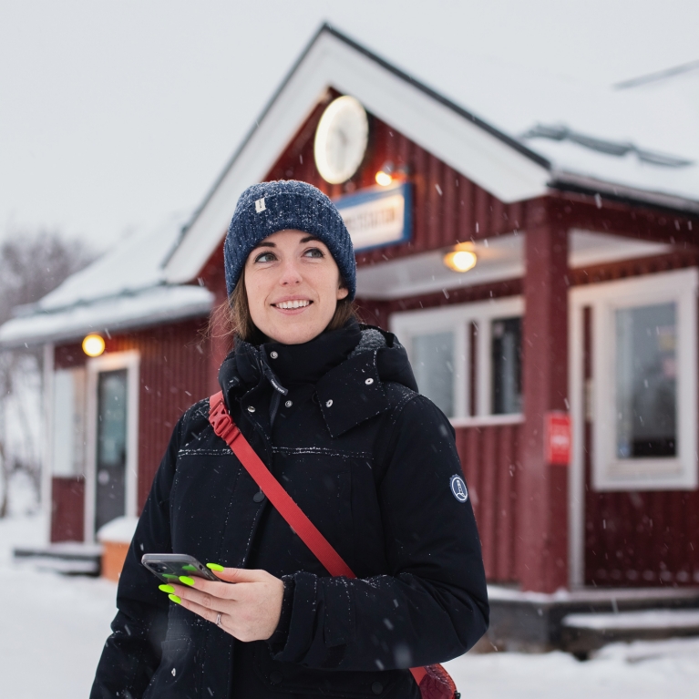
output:
[[[478,425],[509,425],[522,422],[521,413],[507,415],[492,414],[492,362],[490,359],[491,325],[498,318],[524,316],[522,296],[508,296],[477,303],[455,303],[439,308],[419,311],[401,311],[388,319],[392,333],[406,346],[412,361],[412,339],[425,333],[454,332],[454,416],[450,417],[454,427],[476,427]],[[470,385],[470,325],[477,326],[476,334],[476,414],[468,413]],[[485,361],[484,361],[485,359]]]

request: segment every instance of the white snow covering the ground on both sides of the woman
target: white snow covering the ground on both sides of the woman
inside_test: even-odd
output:
[[[40,515],[0,520],[0,677],[13,699],[87,697],[114,616],[116,585],[36,571],[15,545],[43,543]],[[446,663],[468,699],[694,696],[699,639],[615,644],[580,663],[566,653],[469,653]]]

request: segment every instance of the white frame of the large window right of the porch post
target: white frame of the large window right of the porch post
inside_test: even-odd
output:
[[[576,405],[574,441],[581,448],[585,419],[582,385],[582,309],[592,309],[592,488],[600,491],[694,490],[697,472],[697,269],[649,274],[632,279],[579,287],[571,292],[571,346],[575,364],[571,394]],[[615,450],[616,382],[614,364],[615,312],[659,303],[677,308],[677,443],[679,453],[668,458],[619,459]],[[572,357],[571,357],[572,358]],[[581,457],[580,457],[581,458]]]

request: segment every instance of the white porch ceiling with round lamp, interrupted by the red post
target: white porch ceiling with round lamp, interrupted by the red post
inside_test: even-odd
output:
[[[390,300],[424,293],[448,292],[460,287],[517,279],[524,275],[526,233],[513,232],[478,241],[473,252],[478,264],[468,272],[453,272],[444,262],[448,249],[423,252],[357,269],[357,296]],[[571,230],[568,264],[571,268],[605,262],[653,257],[672,250],[671,245],[637,241],[610,233]]]

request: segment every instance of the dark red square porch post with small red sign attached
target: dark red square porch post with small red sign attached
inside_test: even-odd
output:
[[[517,562],[522,589],[551,592],[568,586],[568,468],[547,463],[544,438],[546,414],[569,412],[568,231],[537,213],[525,242]]]

